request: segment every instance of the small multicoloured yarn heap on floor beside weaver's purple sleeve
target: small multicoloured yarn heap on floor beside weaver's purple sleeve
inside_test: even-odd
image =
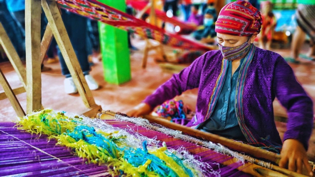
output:
[[[177,101],[173,99],[165,101],[162,105],[158,106],[155,112],[157,116],[168,118],[171,122],[185,125],[189,122],[186,113],[191,113],[191,110],[184,106],[182,100]]]

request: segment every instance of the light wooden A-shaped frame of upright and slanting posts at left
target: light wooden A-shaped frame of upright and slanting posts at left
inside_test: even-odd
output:
[[[43,7],[48,20],[42,41],[40,41],[41,7]],[[16,114],[19,117],[23,117],[26,114],[20,106],[19,101],[16,99],[15,94],[26,91],[26,113],[28,114],[34,110],[43,109],[41,104],[41,64],[54,36],[83,103],[87,107],[81,114],[87,117],[95,117],[96,114],[101,111],[101,106],[95,104],[91,91],[85,81],[77,56],[72,48],[68,33],[61,19],[61,11],[57,3],[50,0],[26,0],[25,12],[26,70],[8,35],[4,31],[2,24],[0,24],[0,43],[23,85],[23,87],[12,89],[4,77],[3,72],[0,70],[0,84],[4,89],[4,92],[0,93],[0,99],[2,100],[8,97]]]

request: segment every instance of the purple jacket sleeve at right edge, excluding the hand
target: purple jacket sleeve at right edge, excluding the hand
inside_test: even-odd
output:
[[[299,140],[307,151],[313,128],[313,102],[281,56],[278,57],[274,70],[273,91],[288,112],[287,131],[283,141]]]

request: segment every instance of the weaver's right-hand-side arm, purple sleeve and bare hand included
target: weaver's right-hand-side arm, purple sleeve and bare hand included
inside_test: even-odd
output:
[[[273,79],[275,96],[288,112],[279,166],[288,166],[289,170],[301,173],[305,164],[312,175],[306,151],[313,128],[313,102],[295,79],[292,68],[280,56]]]

